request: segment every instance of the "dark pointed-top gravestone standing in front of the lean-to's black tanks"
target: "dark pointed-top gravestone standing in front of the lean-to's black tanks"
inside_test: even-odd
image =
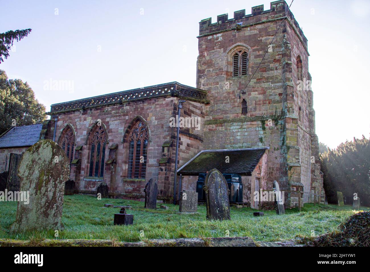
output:
[[[217,169],[212,169],[204,181],[208,220],[229,220],[229,187],[225,177]]]

